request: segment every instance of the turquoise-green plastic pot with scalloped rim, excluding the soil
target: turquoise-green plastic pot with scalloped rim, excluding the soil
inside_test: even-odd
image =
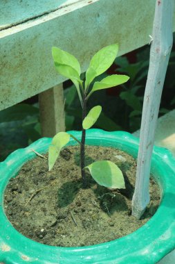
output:
[[[81,138],[81,132],[71,131]],[[6,264],[78,264],[123,263],[153,264],[175,248],[175,160],[167,149],[154,147],[151,173],[160,185],[162,199],[156,214],[137,231],[100,245],[88,247],[52,247],[21,235],[8,221],[3,208],[3,192],[11,177],[35,153],[46,153],[50,138],[37,140],[26,149],[18,149],[0,163],[0,263]],[[115,147],[134,158],[138,154],[138,139],[125,132],[105,132],[90,129],[87,145]],[[69,145],[75,145],[71,140]],[[175,263],[175,261],[172,261]]]

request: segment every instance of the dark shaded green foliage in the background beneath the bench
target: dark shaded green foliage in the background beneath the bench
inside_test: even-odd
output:
[[[142,102],[149,66],[149,46],[116,58],[111,68],[100,76],[127,74],[130,81],[124,85],[100,90],[88,102],[88,108],[100,104],[102,114],[94,127],[106,131],[123,130],[133,132],[140,129]],[[163,115],[175,108],[175,34],[174,47],[169,60],[159,114]],[[82,76],[83,77],[83,76]],[[96,80],[97,81],[97,80]],[[64,83],[66,99],[66,130],[81,129],[81,106],[77,91],[71,81]],[[89,110],[88,109],[88,110]],[[29,99],[0,112],[0,161],[11,151],[26,147],[41,137],[39,106],[37,97]]]

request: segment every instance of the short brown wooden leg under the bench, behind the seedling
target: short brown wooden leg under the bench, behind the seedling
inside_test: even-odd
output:
[[[62,83],[39,94],[39,113],[42,136],[53,137],[59,131],[65,131]]]

